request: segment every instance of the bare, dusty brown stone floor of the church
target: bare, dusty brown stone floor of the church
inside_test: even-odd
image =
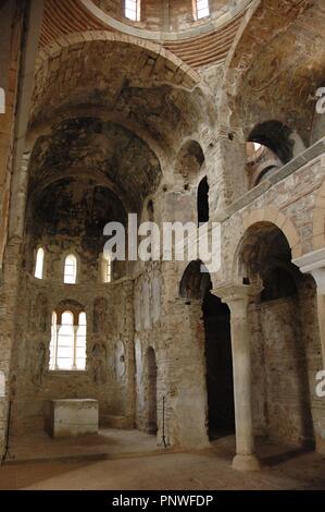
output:
[[[108,430],[101,436],[91,449],[89,437],[73,443],[70,440],[70,450],[63,440],[58,443],[43,438],[39,442],[37,436],[33,448],[21,442],[25,462],[0,467],[0,489],[325,489],[325,456],[296,447],[258,443],[264,468],[243,474],[232,470],[232,436],[192,452],[157,449],[153,437],[136,430]],[[38,451],[38,444],[45,450],[53,443],[58,451]],[[98,447],[105,447],[105,453]],[[32,461],[33,451],[38,461]]]

